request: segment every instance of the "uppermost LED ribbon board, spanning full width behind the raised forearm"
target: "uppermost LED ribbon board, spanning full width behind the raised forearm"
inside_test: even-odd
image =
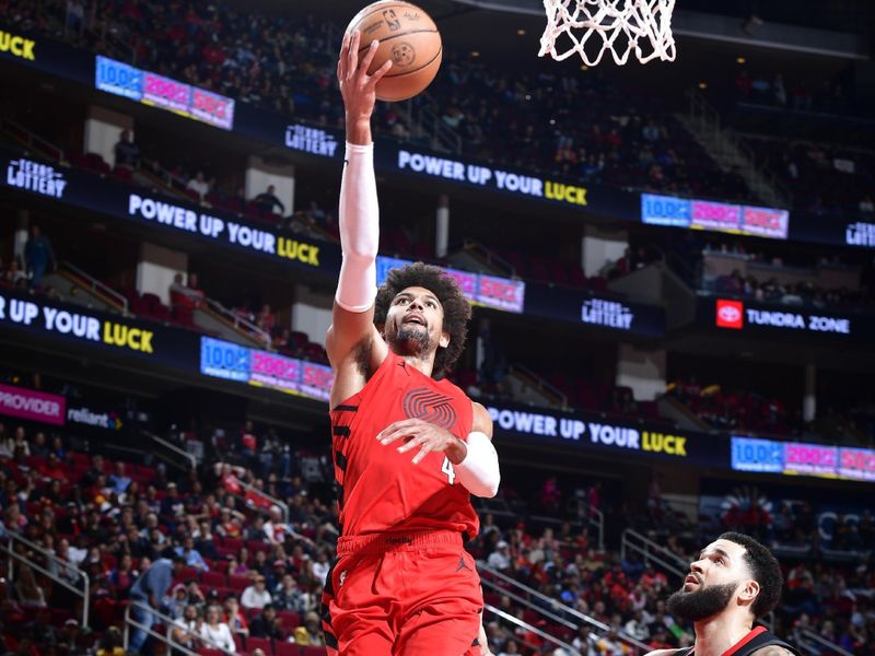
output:
[[[105,93],[294,151],[314,161],[342,162],[345,137],[341,130],[293,120],[246,103],[237,105],[233,98],[206,89],[15,27],[0,25],[0,60],[37,68]],[[640,194],[591,185],[579,178],[447,155],[387,139],[377,139],[375,165],[382,174],[432,180],[451,191],[468,188],[618,221],[875,248],[875,222],[853,215],[825,216],[780,208]]]

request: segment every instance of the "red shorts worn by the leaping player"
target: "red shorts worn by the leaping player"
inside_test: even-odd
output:
[[[467,656],[483,595],[454,531],[341,538],[323,595],[329,654]]]

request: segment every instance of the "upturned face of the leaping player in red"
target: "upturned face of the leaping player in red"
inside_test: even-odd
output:
[[[386,313],[386,341],[400,355],[423,355],[450,344],[443,331],[444,309],[425,288],[401,290]]]

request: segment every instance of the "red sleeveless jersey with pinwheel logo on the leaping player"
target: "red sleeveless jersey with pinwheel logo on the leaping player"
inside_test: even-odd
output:
[[[422,419],[467,441],[471,400],[450,380],[435,380],[393,353],[358,394],[330,411],[340,525],[345,537],[376,532],[455,530],[477,535],[470,495],[443,453],[419,465],[417,449],[399,454],[377,434],[404,419]]]

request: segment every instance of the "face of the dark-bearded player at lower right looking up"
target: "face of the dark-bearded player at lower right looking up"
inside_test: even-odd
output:
[[[684,586],[669,597],[668,612],[695,622],[723,612],[739,594],[749,595],[757,584],[744,554],[744,547],[728,540],[705,547],[690,563]]]

